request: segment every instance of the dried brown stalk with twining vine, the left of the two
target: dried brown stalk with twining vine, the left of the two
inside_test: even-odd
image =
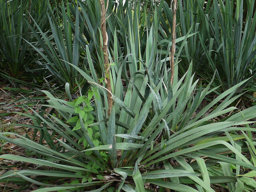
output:
[[[107,3],[108,7],[108,3]],[[113,106],[112,101],[112,89],[110,84],[110,72],[109,72],[109,62],[108,62],[108,34],[106,32],[106,8],[105,8],[105,1],[100,0],[100,8],[101,8],[101,32],[102,32],[102,40],[103,40],[103,53],[104,53],[104,70],[105,70],[105,79],[106,79],[106,86],[108,91],[108,114],[110,114]]]

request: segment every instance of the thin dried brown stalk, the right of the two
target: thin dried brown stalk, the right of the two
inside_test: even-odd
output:
[[[175,43],[176,43],[176,12],[178,4],[177,0],[172,0],[172,52],[170,52],[170,67],[171,67],[171,84],[174,78],[174,53],[175,53]]]

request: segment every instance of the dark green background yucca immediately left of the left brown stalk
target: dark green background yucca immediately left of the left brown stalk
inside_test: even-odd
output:
[[[84,59],[86,46],[89,46],[97,74],[104,76],[104,54],[100,44],[100,4],[98,1],[45,1],[46,17],[50,24],[50,32],[45,33],[37,21],[32,18],[29,25],[37,42],[28,42],[43,58],[37,63],[48,70],[60,86],[70,84],[72,93],[82,86],[82,78],[68,63],[87,70],[88,61]],[[100,55],[100,56],[99,56]],[[98,57],[99,56],[99,57]],[[83,91],[84,92],[84,91]]]

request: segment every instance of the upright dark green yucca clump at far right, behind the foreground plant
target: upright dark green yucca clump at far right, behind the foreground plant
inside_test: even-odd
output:
[[[247,4],[246,9],[244,4]],[[210,66],[218,70],[220,84],[226,90],[250,76],[255,77],[254,0],[247,2],[214,0],[212,8],[214,20],[208,19],[208,23],[214,35],[212,37],[214,52],[210,54],[207,51],[206,54]],[[242,88],[248,88],[252,80],[253,78]]]

